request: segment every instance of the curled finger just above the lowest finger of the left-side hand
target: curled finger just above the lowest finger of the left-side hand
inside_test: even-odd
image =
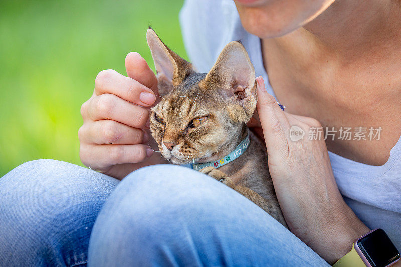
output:
[[[79,129],[78,136],[81,142],[97,145],[135,145],[149,140],[145,131],[112,120],[85,123]]]

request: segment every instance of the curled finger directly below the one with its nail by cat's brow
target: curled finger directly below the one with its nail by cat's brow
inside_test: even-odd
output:
[[[88,116],[93,121],[113,120],[134,128],[147,128],[149,111],[113,94],[102,94],[91,99]]]

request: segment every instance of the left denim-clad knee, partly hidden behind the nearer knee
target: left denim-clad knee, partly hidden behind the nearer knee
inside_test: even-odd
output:
[[[7,173],[0,178],[0,262],[86,260],[92,225],[117,183],[56,160],[30,161]]]

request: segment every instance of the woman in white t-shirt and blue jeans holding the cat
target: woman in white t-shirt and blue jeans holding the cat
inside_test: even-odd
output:
[[[378,227],[401,247],[401,3],[234,2],[187,0],[184,40],[200,71],[231,40],[241,39],[249,52],[262,76],[260,123],[251,126],[262,126],[291,232],[203,174],[150,166],[164,163],[142,131],[157,82],[132,52],[128,77],[100,72],[81,109],[81,160],[103,174],[40,160],[0,179],[0,263],[327,265]],[[306,134],[294,142],[294,125],[382,132],[373,140]]]

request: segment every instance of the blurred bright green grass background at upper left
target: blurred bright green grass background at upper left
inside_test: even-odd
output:
[[[183,1],[0,1],[0,177],[23,162],[82,165],[81,104],[97,73],[125,73],[139,52],[154,69],[150,24],[186,58],[178,13]]]

